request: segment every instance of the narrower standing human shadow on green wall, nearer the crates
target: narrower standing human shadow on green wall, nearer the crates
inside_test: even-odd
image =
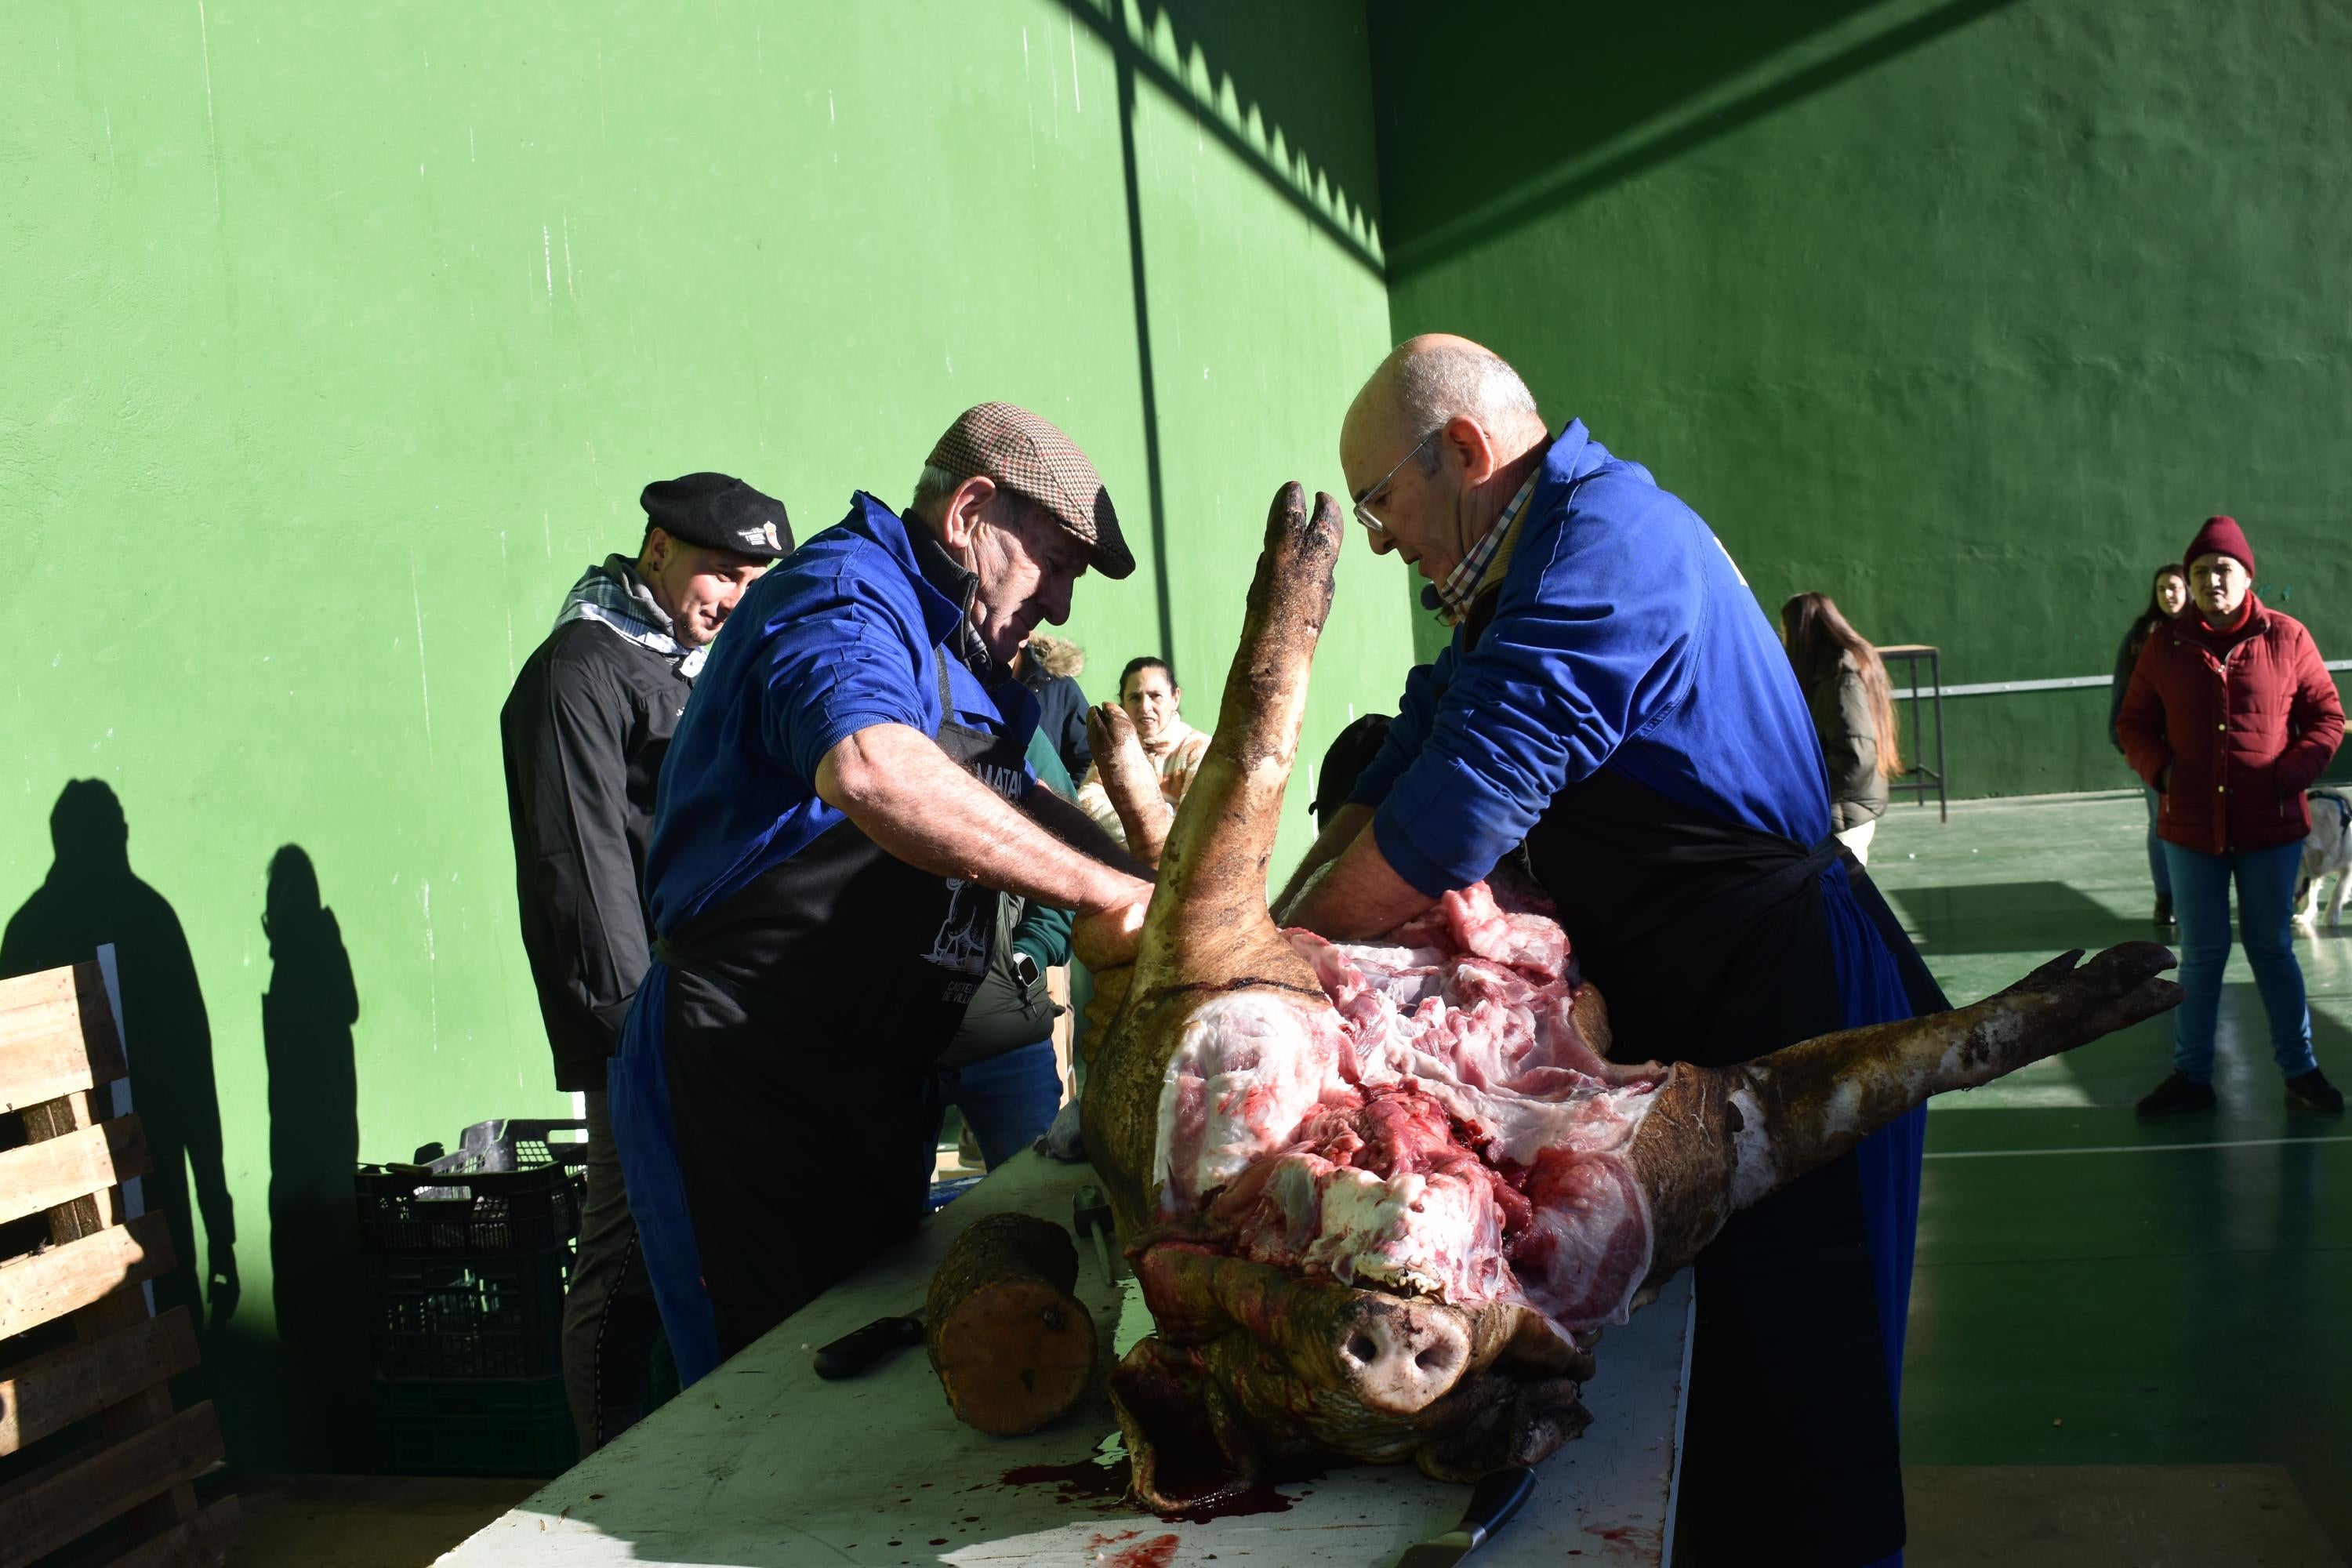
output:
[[[365,1455],[367,1340],[350,1180],[360,1164],[360,1079],[350,1025],[360,992],[334,910],[299,844],[270,856],[261,929],[270,987],[261,1053],[270,1074],[270,1298],[278,1338],[313,1382],[334,1469]]]

